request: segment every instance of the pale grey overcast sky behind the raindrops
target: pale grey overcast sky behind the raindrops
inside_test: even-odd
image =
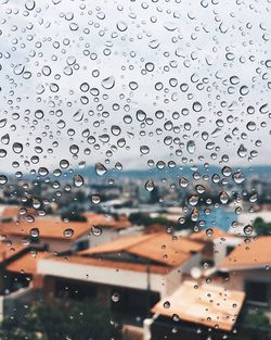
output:
[[[1,171],[270,164],[269,2],[2,1]]]

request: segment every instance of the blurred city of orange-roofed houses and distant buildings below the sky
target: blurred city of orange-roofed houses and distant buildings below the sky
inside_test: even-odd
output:
[[[2,175],[3,339],[271,339],[269,167],[120,171]]]

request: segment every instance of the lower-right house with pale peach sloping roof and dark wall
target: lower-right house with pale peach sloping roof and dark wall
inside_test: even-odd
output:
[[[242,291],[184,280],[152,308],[153,317],[144,320],[144,340],[228,339],[244,299]]]

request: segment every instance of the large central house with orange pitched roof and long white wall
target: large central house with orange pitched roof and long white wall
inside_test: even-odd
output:
[[[47,295],[95,297],[125,317],[144,317],[198,265],[203,245],[168,234],[122,237],[38,262]]]

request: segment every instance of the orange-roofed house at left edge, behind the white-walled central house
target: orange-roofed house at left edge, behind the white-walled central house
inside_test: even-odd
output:
[[[36,217],[0,223],[0,232],[11,242],[64,252],[86,249],[89,245],[90,226],[87,222],[63,222],[56,217]]]

